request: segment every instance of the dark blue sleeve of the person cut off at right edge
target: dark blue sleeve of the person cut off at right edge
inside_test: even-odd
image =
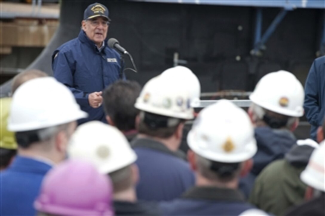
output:
[[[318,114],[319,114],[319,93],[318,92],[318,68],[316,61],[312,64],[306,82],[305,82],[305,102],[304,109],[308,122],[311,125],[318,126]]]

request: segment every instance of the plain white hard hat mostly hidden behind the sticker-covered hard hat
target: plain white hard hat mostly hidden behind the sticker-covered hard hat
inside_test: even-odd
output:
[[[163,71],[161,76],[167,80],[173,80],[179,85],[183,85],[189,92],[192,107],[196,107],[200,104],[200,81],[190,69],[184,66],[175,66]]]

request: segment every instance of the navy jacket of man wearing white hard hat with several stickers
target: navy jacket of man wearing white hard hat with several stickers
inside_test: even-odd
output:
[[[162,143],[136,138],[131,145],[138,157],[140,181],[136,193],[139,199],[172,200],[194,185],[195,177],[189,164]]]

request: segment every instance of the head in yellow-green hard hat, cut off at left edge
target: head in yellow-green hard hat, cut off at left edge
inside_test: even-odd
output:
[[[13,132],[7,130],[11,98],[0,99],[0,170],[6,169],[17,154],[17,142]]]

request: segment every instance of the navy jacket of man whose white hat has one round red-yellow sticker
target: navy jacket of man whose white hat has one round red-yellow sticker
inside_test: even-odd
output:
[[[257,152],[253,156],[253,168],[244,178],[240,179],[240,189],[248,197],[253,188],[255,178],[271,162],[284,158],[297,140],[286,129],[272,129],[268,126],[255,128]]]

